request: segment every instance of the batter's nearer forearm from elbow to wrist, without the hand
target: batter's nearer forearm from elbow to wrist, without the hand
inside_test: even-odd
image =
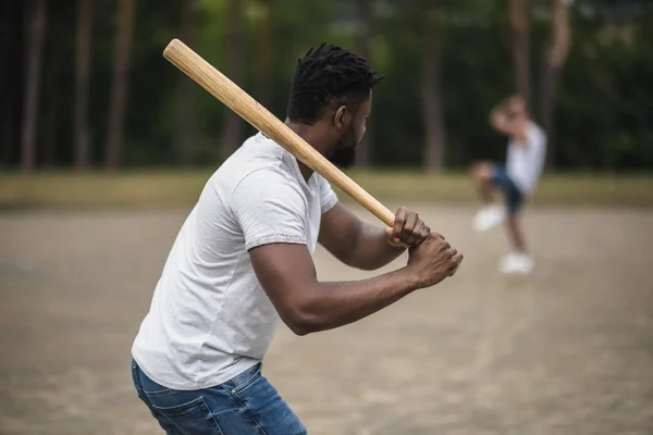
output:
[[[420,287],[408,268],[365,281],[316,283],[307,289],[293,331],[305,335],[356,322]]]

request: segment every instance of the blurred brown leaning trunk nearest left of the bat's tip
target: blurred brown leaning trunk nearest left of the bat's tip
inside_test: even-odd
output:
[[[109,170],[116,170],[122,157],[135,9],[136,0],[120,0],[119,2],[113,86],[108,121],[107,169]]]

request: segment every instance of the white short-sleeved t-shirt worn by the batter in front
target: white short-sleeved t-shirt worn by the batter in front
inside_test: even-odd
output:
[[[132,355],[155,382],[174,389],[222,384],[262,360],[279,314],[248,249],[305,244],[337,202],[319,174],[257,134],[207,182],[184,222],[140,325]]]

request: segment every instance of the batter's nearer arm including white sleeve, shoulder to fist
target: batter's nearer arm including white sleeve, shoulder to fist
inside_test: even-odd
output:
[[[333,207],[325,201],[323,214]],[[298,335],[362,319],[441,282],[463,260],[444,239],[430,235],[396,272],[360,282],[322,283],[307,248],[305,203],[283,174],[261,169],[248,175],[235,188],[231,209],[261,287]]]

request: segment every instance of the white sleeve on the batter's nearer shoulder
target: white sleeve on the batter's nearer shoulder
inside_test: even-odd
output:
[[[232,210],[247,250],[269,244],[307,244],[304,199],[272,169],[258,170],[238,184]]]

